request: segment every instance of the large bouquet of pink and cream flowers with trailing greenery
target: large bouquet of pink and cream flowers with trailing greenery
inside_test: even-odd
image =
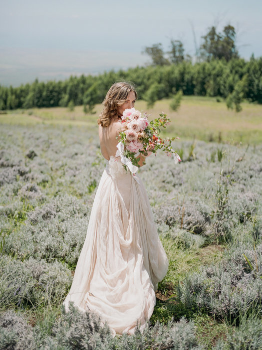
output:
[[[161,138],[161,127],[166,127],[170,119],[166,114],[159,114],[159,118],[149,121],[147,113],[141,113],[135,108],[123,111],[122,130],[119,132],[120,142],[117,144],[116,157],[120,156],[123,166],[135,174],[138,170],[138,155],[148,156],[161,149],[167,155],[173,154],[175,163],[181,161],[178,153],[171,147],[171,142],[179,137]]]

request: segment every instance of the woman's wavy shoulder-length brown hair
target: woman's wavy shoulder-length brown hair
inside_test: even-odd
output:
[[[103,100],[104,108],[97,120],[101,126],[110,125],[113,118],[117,116],[118,108],[125,102],[129,93],[133,91],[137,98],[135,87],[129,82],[115,82],[108,90]]]

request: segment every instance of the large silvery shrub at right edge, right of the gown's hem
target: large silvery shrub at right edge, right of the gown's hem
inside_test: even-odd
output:
[[[262,244],[234,245],[217,265],[189,274],[178,286],[185,307],[235,321],[262,305]]]

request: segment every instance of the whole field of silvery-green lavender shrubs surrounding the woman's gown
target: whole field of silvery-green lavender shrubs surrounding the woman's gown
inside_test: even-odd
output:
[[[147,327],[113,337],[61,306],[105,167],[97,126],[1,123],[0,348],[262,348],[262,143],[174,148],[180,164],[138,174],[169,270]]]

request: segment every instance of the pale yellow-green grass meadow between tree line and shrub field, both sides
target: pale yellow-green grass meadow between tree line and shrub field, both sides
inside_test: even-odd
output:
[[[164,111],[171,118],[168,133],[182,139],[228,142],[234,139],[249,144],[262,142],[262,105],[243,102],[243,110],[237,113],[228,110],[224,101],[215,97],[184,96],[177,112],[171,111],[170,99],[162,99],[153,108],[147,108],[146,102],[138,100],[136,108],[157,117]],[[65,107],[33,108],[29,110],[8,111],[0,115],[0,123],[32,125],[37,123],[53,125],[78,125],[87,128],[96,127],[97,117],[102,105],[95,106],[96,114],[85,114],[83,106],[73,111]]]

